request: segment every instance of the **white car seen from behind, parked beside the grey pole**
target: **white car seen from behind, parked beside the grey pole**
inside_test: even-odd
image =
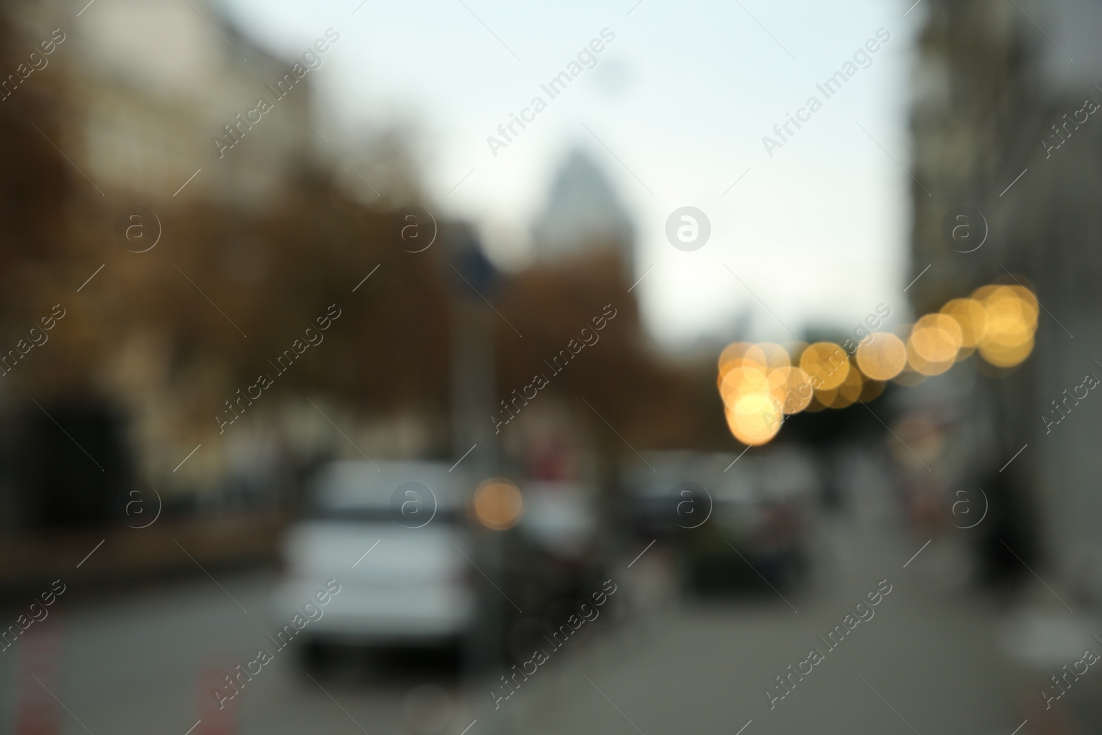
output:
[[[341,591],[302,638],[323,644],[445,645],[475,623],[471,536],[449,465],[333,462],[311,488],[311,511],[288,532],[280,624],[336,580]],[[464,556],[466,554],[466,556]],[[315,613],[316,615],[316,613]]]

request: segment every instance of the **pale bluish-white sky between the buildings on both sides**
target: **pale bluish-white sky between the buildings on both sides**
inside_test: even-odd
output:
[[[646,277],[634,293],[667,346],[731,337],[741,316],[752,331],[741,336],[785,341],[809,324],[852,328],[878,304],[892,322],[907,314],[908,90],[921,3],[224,3],[242,32],[289,58],[336,29],[341,43],[312,75],[315,127],[346,140],[407,130],[430,209],[475,223],[503,267],[526,261],[568,153],[592,155],[635,221],[635,278]],[[817,84],[880,29],[890,40],[828,99]],[[596,65],[551,99],[540,85],[602,31],[615,37]],[[547,109],[491,150],[487,137],[500,138],[498,126],[537,95]],[[763,138],[780,142],[774,126],[811,96],[821,109],[767,150]],[[666,238],[682,206],[711,224],[694,251]]]

